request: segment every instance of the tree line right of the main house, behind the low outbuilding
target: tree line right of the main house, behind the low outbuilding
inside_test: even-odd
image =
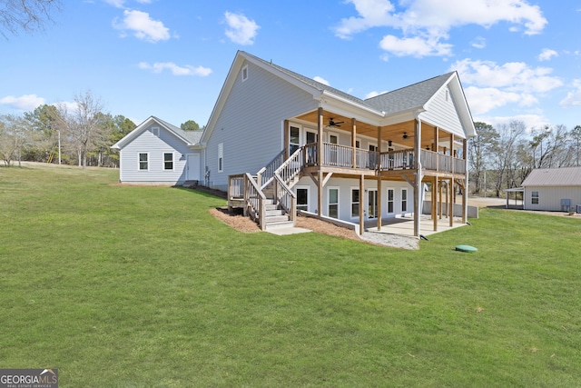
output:
[[[527,131],[518,120],[497,127],[477,122],[478,136],[468,142],[470,187],[473,194],[499,197],[506,188],[519,187],[536,168],[581,165],[581,125],[546,125]]]

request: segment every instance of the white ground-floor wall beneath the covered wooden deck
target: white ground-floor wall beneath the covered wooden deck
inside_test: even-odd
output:
[[[404,215],[413,214],[413,187],[405,182],[382,181],[381,182],[382,195],[382,218],[396,218]],[[339,219],[348,221],[350,223],[359,223],[359,216],[351,216],[351,189],[359,190],[359,179],[347,178],[330,178],[329,182],[323,187],[323,211],[322,214],[329,216],[329,188],[339,189]],[[318,211],[318,192],[317,185],[310,179],[310,177],[302,177],[298,184],[293,187],[296,193],[298,188],[308,188],[309,190],[309,208],[310,213],[317,213]],[[359,195],[359,199],[364,201],[363,209],[365,219],[368,220],[368,198],[369,190],[377,190],[378,184],[375,180],[366,180],[364,190],[366,193]],[[393,213],[388,213],[388,189],[394,190],[394,208]],[[408,206],[407,211],[401,209],[402,190],[408,189]],[[379,202],[379,201],[378,201]],[[377,218],[375,218],[377,219]]]

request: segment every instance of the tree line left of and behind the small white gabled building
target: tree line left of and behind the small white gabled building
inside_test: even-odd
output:
[[[91,92],[74,96],[74,104],[44,104],[22,115],[0,114],[0,157],[5,165],[21,161],[118,167],[111,149],[136,127],[122,114],[104,113]],[[183,130],[200,130],[188,120]]]

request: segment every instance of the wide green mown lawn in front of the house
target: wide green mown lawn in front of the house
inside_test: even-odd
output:
[[[486,209],[406,251],[241,234],[208,213],[220,198],[117,174],[0,168],[0,368],[62,387],[581,384],[579,219]]]

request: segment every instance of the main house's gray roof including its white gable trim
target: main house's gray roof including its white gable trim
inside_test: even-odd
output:
[[[232,62],[230,71],[226,76],[226,80],[222,85],[222,90],[218,96],[216,104],[214,105],[212,114],[210,115],[210,120],[206,125],[206,130],[204,131],[204,134],[202,134],[202,143],[206,142],[212,134],[219,112],[225,104],[226,98],[230,93],[231,87],[235,82],[244,61],[248,61],[253,65],[258,65],[271,74],[278,75],[282,79],[290,82],[292,85],[298,86],[304,91],[310,93],[313,96],[313,99],[320,99],[323,95],[329,96],[338,102],[346,102],[351,106],[351,109],[361,109],[370,113],[372,116],[377,117],[378,120],[393,114],[409,114],[412,111],[423,111],[425,110],[426,104],[428,104],[428,102],[434,98],[434,95],[438,93],[438,90],[449,85],[450,92],[458,101],[458,114],[462,124],[466,128],[466,134],[468,137],[476,135],[474,120],[470,114],[466,96],[464,95],[457,72],[438,75],[414,85],[409,85],[383,95],[362,100],[329,85],[321,84],[307,76],[295,73],[280,65],[267,62],[244,51],[238,51],[234,61]]]

